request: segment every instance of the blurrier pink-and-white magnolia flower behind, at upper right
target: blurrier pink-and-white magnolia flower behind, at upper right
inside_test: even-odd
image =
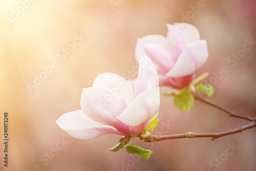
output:
[[[205,40],[200,40],[197,28],[186,23],[166,25],[167,37],[147,35],[139,38],[135,56],[150,57],[159,75],[159,86],[182,89],[194,80],[208,58]]]

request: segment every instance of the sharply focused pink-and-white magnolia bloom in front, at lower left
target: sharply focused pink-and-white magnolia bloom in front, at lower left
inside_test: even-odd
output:
[[[104,134],[128,136],[142,133],[160,105],[158,76],[148,57],[141,57],[135,89],[122,77],[104,73],[93,87],[83,89],[81,110],[56,121],[71,136],[91,139]]]

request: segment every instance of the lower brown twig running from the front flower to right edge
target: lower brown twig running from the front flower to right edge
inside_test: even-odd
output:
[[[243,132],[245,130],[251,129],[252,127],[256,126],[256,122],[252,121],[251,123],[238,127],[233,130],[229,131],[224,131],[220,133],[199,133],[199,134],[194,134],[191,132],[188,132],[186,134],[176,134],[176,135],[163,135],[163,136],[158,136],[158,135],[150,135],[144,140],[144,142],[156,142],[156,141],[162,141],[162,140],[169,140],[169,139],[178,139],[178,138],[204,138],[204,137],[212,137],[212,140],[215,140],[216,138],[223,137],[226,135],[231,135],[231,134],[236,134],[239,132]]]

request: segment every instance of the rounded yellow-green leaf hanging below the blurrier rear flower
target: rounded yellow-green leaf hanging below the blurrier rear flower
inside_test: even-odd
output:
[[[195,98],[193,94],[186,90],[181,94],[175,96],[174,104],[182,111],[188,112],[194,105]]]

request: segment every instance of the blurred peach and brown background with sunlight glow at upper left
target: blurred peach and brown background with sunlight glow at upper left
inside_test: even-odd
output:
[[[247,41],[256,42],[255,1],[0,2],[0,170],[256,170],[255,129],[215,141],[149,144],[136,139],[135,144],[153,151],[145,160],[125,150],[110,152],[118,135],[80,140],[55,122],[80,109],[82,88],[92,87],[98,74],[123,75],[137,66],[137,38],[166,35],[165,24],[176,22],[195,25],[207,40],[209,58],[197,76],[210,73],[206,80],[215,87],[210,99],[255,117],[256,44],[243,51]],[[236,53],[241,57],[232,57]],[[215,76],[223,66],[228,72]],[[9,112],[8,168],[3,163],[4,112]],[[174,106],[172,97],[161,96],[153,134],[221,132],[247,123],[198,101],[187,114]],[[227,155],[230,145],[236,148]]]

